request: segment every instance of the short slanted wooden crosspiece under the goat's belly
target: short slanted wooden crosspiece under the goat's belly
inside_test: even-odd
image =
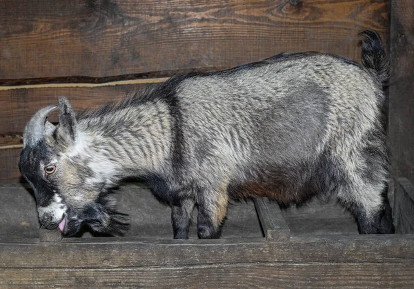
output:
[[[290,230],[279,205],[267,198],[257,198],[254,201],[266,239],[268,241],[289,241]]]

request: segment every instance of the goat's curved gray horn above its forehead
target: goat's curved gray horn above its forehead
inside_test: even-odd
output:
[[[55,108],[57,108],[57,106],[47,106],[34,114],[24,129],[23,146],[34,146],[38,141],[45,137],[46,117],[48,117],[48,114]]]

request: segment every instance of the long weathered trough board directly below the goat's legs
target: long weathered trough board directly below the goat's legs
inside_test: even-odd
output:
[[[59,254],[57,254],[59,252]],[[45,258],[47,256],[47,258]],[[55,243],[0,240],[0,268],[118,268],[258,262],[414,262],[414,235],[260,239],[63,239]]]

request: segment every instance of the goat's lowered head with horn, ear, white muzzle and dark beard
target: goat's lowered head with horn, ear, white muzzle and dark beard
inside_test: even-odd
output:
[[[30,119],[19,161],[21,175],[34,190],[41,224],[48,229],[59,227],[69,236],[75,235],[82,223],[95,232],[122,235],[128,228],[126,215],[115,210],[108,184],[91,170],[88,160],[94,156],[76,152],[79,133],[75,112],[61,97],[59,125],[55,126],[47,121],[55,108],[42,108]]]

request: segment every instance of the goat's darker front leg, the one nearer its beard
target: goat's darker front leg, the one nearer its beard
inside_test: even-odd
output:
[[[190,228],[194,204],[193,199],[182,199],[172,205],[171,220],[174,239],[188,239],[188,229]]]

